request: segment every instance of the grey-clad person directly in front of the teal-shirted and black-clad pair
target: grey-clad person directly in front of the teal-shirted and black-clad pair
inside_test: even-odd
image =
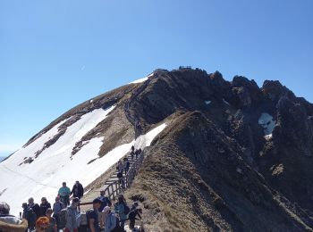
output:
[[[80,203],[80,199],[77,197],[72,199],[70,206],[66,208],[66,224],[63,229],[64,232],[78,232],[80,226],[80,214],[77,211],[77,206]]]

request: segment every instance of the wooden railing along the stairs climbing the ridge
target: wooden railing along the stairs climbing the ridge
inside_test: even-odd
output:
[[[110,201],[114,201],[115,198],[122,194],[123,191],[131,186],[131,183],[133,179],[136,177],[138,170],[140,169],[140,166],[143,162],[143,157],[144,157],[144,152],[142,151],[137,160],[131,164],[130,170],[126,173],[123,178],[114,180],[111,184],[106,186],[105,188],[105,195],[110,199]],[[122,182],[122,183],[121,183]],[[87,205],[87,204],[92,204],[92,202],[88,203],[80,203],[80,205]]]

